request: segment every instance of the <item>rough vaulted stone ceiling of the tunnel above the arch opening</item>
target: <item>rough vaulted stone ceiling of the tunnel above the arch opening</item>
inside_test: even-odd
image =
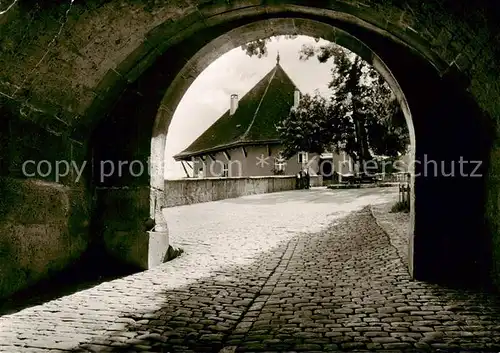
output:
[[[311,4],[130,0],[68,1],[44,8],[20,0],[0,17],[1,99],[20,108],[24,118],[84,141],[92,119],[109,109],[125,86],[168,47],[191,38],[193,47],[178,52],[182,67],[203,45],[238,25],[295,17],[344,29],[381,56],[391,54],[383,52],[384,40],[390,39],[408,46],[440,72],[453,64],[471,80],[470,91],[479,105],[499,116],[495,98],[500,96],[500,12],[492,5],[396,0]],[[296,30],[290,28],[290,33]],[[272,26],[263,32],[274,34]]]

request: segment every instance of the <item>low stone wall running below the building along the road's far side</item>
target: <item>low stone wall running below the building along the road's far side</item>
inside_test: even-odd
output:
[[[311,177],[311,186],[321,186],[321,176]],[[178,179],[165,181],[167,207],[295,189],[295,176]]]

